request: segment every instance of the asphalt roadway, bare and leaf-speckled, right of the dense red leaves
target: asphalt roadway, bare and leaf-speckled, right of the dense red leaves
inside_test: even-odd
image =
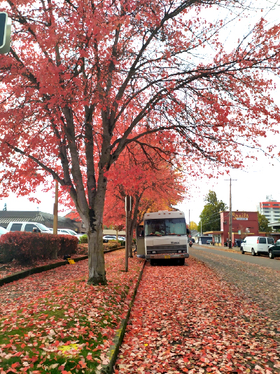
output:
[[[191,257],[214,269],[240,297],[256,302],[268,318],[280,319],[280,259],[193,246]],[[188,260],[186,261],[188,265]]]

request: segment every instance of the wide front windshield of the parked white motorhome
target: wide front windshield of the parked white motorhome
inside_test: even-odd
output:
[[[186,220],[184,218],[166,218],[145,221],[145,236],[155,235],[186,235]]]

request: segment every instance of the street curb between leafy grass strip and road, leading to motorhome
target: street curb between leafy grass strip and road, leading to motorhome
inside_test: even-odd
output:
[[[120,328],[118,328],[118,330],[116,330],[116,335],[115,335],[115,338],[114,338],[114,344],[111,345],[111,347],[109,349],[109,352],[106,355],[109,358],[110,361],[107,365],[102,365],[102,369],[100,370],[100,373],[102,373],[102,374],[113,374],[114,366],[115,366],[115,363],[116,363],[117,358],[118,358],[118,352],[119,352],[119,349],[120,349],[120,345],[122,344],[123,337],[125,336],[125,329],[127,327],[127,322],[130,319],[130,312],[131,312],[131,309],[133,307],[135,297],[137,295],[137,290],[138,290],[139,283],[140,283],[141,278],[142,278],[142,274],[144,272],[145,264],[146,264],[146,261],[144,261],[144,265],[143,265],[143,267],[141,269],[141,272],[139,274],[138,281],[137,281],[136,287],[134,289],[134,293],[132,295],[132,300],[130,302],[130,307],[128,308],[128,311],[127,311],[127,316],[125,317],[125,319],[123,319],[120,322]]]

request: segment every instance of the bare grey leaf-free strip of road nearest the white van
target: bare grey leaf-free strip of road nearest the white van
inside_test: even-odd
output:
[[[269,267],[270,269],[280,270],[280,258],[274,258],[274,260],[272,260],[267,255],[252,256],[251,253],[244,253],[244,255],[242,255],[239,249],[232,250],[232,251],[236,251],[236,253],[232,253],[232,252],[227,251],[226,249],[224,251],[222,249],[217,250],[210,246],[208,248],[207,246],[193,245],[192,248],[189,248],[189,249],[190,249],[191,255],[195,255],[195,251],[203,251],[206,253],[223,255],[227,258],[232,258],[235,260],[248,262],[250,264]]]

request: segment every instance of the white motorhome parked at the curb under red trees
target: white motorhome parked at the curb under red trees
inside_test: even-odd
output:
[[[179,265],[189,257],[185,214],[158,211],[144,215],[144,225],[137,227],[137,255],[151,261],[176,259]]]

